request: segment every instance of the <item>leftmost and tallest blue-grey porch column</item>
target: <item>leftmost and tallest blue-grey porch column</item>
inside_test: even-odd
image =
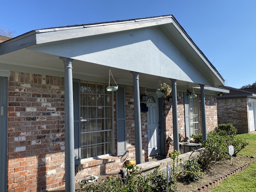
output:
[[[65,68],[65,191],[75,192],[72,59],[60,59],[63,60]]]

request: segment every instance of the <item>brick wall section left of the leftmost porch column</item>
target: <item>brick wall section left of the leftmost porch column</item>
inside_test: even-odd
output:
[[[64,78],[11,72],[8,192],[37,192],[64,179]]]

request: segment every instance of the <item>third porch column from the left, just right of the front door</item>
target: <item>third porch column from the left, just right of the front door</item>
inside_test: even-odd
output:
[[[179,130],[178,130],[178,106],[177,106],[177,80],[172,81],[172,121],[173,121],[173,147],[174,150],[180,152]]]

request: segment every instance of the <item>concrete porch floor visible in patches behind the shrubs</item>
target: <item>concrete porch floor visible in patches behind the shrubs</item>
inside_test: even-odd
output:
[[[198,150],[194,150],[194,152],[187,152],[187,153],[184,153],[184,154],[180,154],[178,156],[179,160],[180,161],[186,161],[192,157],[195,157],[199,154],[199,151],[200,149]],[[170,166],[172,165],[172,159],[171,158],[165,158],[165,159],[162,159],[162,160],[152,160],[152,161],[149,161],[149,162],[145,162],[145,163],[141,163],[141,164],[138,164],[136,166],[138,167],[141,167],[143,172],[146,174],[148,172],[152,172],[155,168],[160,168],[160,169],[166,169],[166,166]],[[107,176],[110,176],[110,175],[114,175],[116,177],[118,177],[118,172],[113,172],[113,173],[110,173],[110,174],[106,174],[106,175],[101,175],[101,176],[98,176],[99,179],[97,181],[100,182],[101,180],[104,180],[107,178]],[[80,186],[78,184],[78,182],[76,182],[76,190],[80,189]],[[48,190],[49,192],[65,192],[65,186],[61,186],[59,188],[56,188],[56,189],[52,189],[52,190]]]

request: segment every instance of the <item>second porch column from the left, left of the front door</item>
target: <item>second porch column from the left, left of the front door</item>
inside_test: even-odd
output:
[[[141,120],[140,120],[140,85],[139,73],[133,74],[134,86],[134,127],[135,127],[135,155],[136,164],[142,163],[142,138],[141,138]]]

